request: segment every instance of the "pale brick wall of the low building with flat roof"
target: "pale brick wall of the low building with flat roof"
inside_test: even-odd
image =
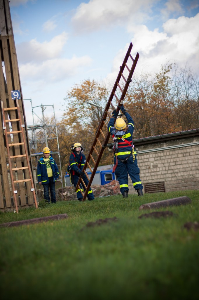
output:
[[[198,141],[199,137],[189,137],[136,147],[143,186],[164,182],[166,192],[199,189],[199,145],[188,146]],[[158,151],[158,148],[161,150]],[[150,152],[142,153],[144,150]],[[137,193],[130,177],[128,184],[129,193]]]

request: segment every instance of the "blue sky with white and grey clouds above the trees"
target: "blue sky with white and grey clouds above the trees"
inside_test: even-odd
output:
[[[199,0],[10,0],[10,12],[23,98],[41,117],[54,105],[60,121],[74,84],[115,82],[130,42],[137,73],[176,62],[199,75]]]

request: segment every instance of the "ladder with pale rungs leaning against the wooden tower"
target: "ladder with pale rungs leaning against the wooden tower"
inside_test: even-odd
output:
[[[10,168],[10,180],[11,180],[11,186],[12,186],[12,192],[13,192],[13,200],[14,200],[14,204],[16,207],[16,212],[18,213],[18,205],[17,205],[17,199],[16,199],[16,194],[17,194],[17,188],[16,188],[16,183],[18,182],[27,182],[30,181],[31,182],[31,192],[33,192],[33,199],[35,201],[35,206],[36,208],[38,208],[37,205],[37,200],[36,200],[36,193],[35,193],[35,188],[34,188],[34,184],[33,184],[33,177],[32,177],[32,172],[31,172],[31,168],[30,168],[30,161],[28,158],[28,151],[27,151],[27,144],[25,141],[25,134],[24,134],[24,128],[25,125],[22,124],[22,118],[21,118],[21,114],[20,114],[20,108],[19,108],[19,102],[18,99],[16,99],[16,107],[8,107],[8,108],[4,108],[3,107],[3,101],[1,100],[1,109],[2,109],[2,116],[3,116],[3,130],[5,131],[5,141],[6,141],[6,148],[7,148],[7,156],[8,156],[8,163],[9,163],[9,168]],[[18,118],[17,119],[5,119],[5,112],[7,111],[11,111],[11,110],[17,110],[18,111]],[[9,115],[9,114],[8,114]],[[17,125],[19,125],[19,129],[21,128],[21,130],[17,130],[17,131],[7,131],[6,128],[6,124],[10,123],[12,125],[12,122],[17,122]],[[20,134],[22,136],[22,142],[21,143],[9,143],[8,141],[8,135],[11,134]],[[21,146],[23,145],[23,146]],[[10,147],[15,147],[15,146],[21,146],[24,147],[24,151],[22,151],[22,155],[10,155]],[[19,167],[16,168],[14,167],[14,159],[16,158],[20,158],[20,157],[24,157],[24,167]],[[12,160],[13,159],[13,160]],[[28,170],[28,174],[29,174],[29,178],[25,178],[27,177],[27,173],[25,176],[25,173],[23,172],[23,170],[27,169]],[[13,172],[15,172],[15,176],[13,176]],[[16,180],[14,180],[14,177],[16,177],[16,172],[18,174],[18,172],[23,172],[22,176],[17,176]],[[24,179],[20,179],[18,180],[18,177],[20,178],[24,178]]]

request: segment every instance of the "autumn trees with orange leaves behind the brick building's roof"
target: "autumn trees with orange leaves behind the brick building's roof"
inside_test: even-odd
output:
[[[175,68],[164,65],[154,76],[132,78],[124,104],[134,119],[134,138],[198,127],[197,77],[190,69]]]

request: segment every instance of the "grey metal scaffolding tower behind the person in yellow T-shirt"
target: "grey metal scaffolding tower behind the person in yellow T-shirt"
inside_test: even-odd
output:
[[[30,101],[31,107],[32,107],[32,116],[33,116],[33,125],[27,125],[27,130],[31,131],[31,136],[29,135],[29,144],[30,144],[30,152],[31,157],[35,157],[36,159],[33,159],[33,170],[34,170],[34,176],[35,181],[37,181],[36,170],[37,170],[37,161],[43,155],[41,152],[42,149],[47,146],[50,148],[50,153],[53,155],[53,158],[56,161],[56,164],[59,168],[59,174],[60,179],[58,181],[62,182],[63,187],[63,180],[62,180],[62,166],[61,166],[61,159],[60,159],[60,152],[59,152],[59,139],[58,139],[58,133],[57,133],[57,126],[56,126],[56,117],[55,117],[55,110],[54,105],[39,105],[34,106],[32,105],[32,99],[24,99]],[[53,110],[53,116],[50,119],[50,124],[47,122],[47,116],[45,116],[45,110],[46,108],[52,108]],[[39,113],[36,112],[36,109],[40,108]],[[35,120],[35,117],[37,117],[37,120]],[[38,123],[40,122],[40,123]],[[50,141],[55,140],[54,143],[51,143]],[[38,149],[39,148],[39,149]],[[58,158],[58,159],[57,159]],[[59,161],[59,163],[58,163]]]

